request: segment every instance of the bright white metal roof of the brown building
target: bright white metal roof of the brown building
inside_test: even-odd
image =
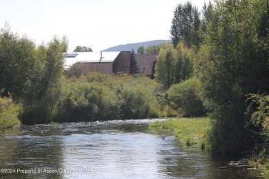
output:
[[[120,52],[67,52],[64,68],[69,69],[74,63],[113,62]]]

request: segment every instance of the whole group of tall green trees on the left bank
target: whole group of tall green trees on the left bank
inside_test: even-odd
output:
[[[20,118],[25,123],[50,121],[67,49],[66,36],[37,46],[27,36],[11,32],[8,23],[1,28],[0,95],[23,106]]]

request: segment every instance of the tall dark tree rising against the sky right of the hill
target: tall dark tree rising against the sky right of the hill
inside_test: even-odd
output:
[[[192,45],[199,47],[201,37],[199,34],[200,29],[200,14],[195,6],[192,6],[190,1],[177,6],[174,11],[172,25],[170,29],[172,43],[174,48],[177,47],[179,41],[190,48]]]

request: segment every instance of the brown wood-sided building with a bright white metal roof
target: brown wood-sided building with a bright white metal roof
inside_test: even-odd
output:
[[[72,52],[66,53],[65,70],[75,63],[82,63],[86,72],[121,74],[135,72],[135,60],[130,51],[121,52]]]

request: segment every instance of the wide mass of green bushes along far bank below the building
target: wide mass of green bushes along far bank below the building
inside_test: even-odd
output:
[[[89,73],[63,81],[57,121],[112,120],[159,116],[159,85],[143,76]]]

